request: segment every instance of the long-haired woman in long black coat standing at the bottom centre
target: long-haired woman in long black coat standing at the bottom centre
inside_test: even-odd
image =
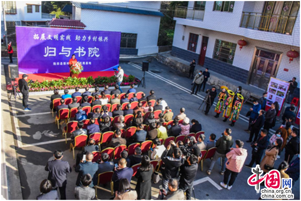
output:
[[[152,198],[152,175],[154,167],[150,164],[150,159],[147,155],[142,156],[141,166],[138,169],[135,177],[138,178],[136,191],[138,199]]]

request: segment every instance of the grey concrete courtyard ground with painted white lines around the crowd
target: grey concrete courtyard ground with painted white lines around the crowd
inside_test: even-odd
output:
[[[144,58],[145,59],[145,58]],[[142,78],[141,62],[144,59],[135,60],[123,60],[120,61],[120,65],[124,69],[126,74],[131,74],[137,78]],[[147,58],[146,58],[147,59]],[[148,58],[149,59],[149,58]],[[6,64],[6,60],[2,60],[2,64]],[[7,65],[5,65],[7,69]],[[7,72],[6,72],[7,74]],[[155,95],[158,98],[166,100],[168,105],[175,115],[179,113],[181,107],[186,108],[186,114],[190,119],[197,119],[205,131],[206,140],[208,140],[211,133],[215,133],[217,137],[221,135],[225,128],[229,128],[230,121],[223,122],[223,118],[214,118],[215,115],[211,108],[211,112],[208,116],[198,110],[200,104],[205,96],[204,92],[196,95],[190,95],[191,82],[186,75],[181,74],[169,67],[157,62],[155,59],[149,65],[149,72],[145,73],[146,88],[141,86],[137,88],[137,91],[143,91],[145,94],[149,93],[149,90],[155,90]],[[206,86],[206,89],[210,86]],[[62,138],[62,130],[57,128],[49,109],[50,95],[30,96],[29,105],[32,108],[30,112],[24,112],[22,109],[22,100],[17,98],[17,101],[10,101],[2,108],[4,112],[7,112],[13,120],[13,130],[4,130],[5,135],[14,135],[15,144],[12,142],[4,142],[6,148],[16,149],[17,162],[19,169],[19,176],[22,186],[23,199],[36,199],[39,192],[40,182],[47,178],[48,172],[44,170],[44,167],[48,160],[52,159],[53,151],[61,149],[64,151],[64,160],[67,160],[71,166],[75,164],[73,160],[72,152],[69,151],[70,141],[67,144]],[[244,105],[242,109],[242,115],[235,127],[231,127],[232,136],[234,140],[240,139],[246,141],[249,134],[243,130],[247,128],[248,119],[244,116],[250,105]],[[15,116],[13,116],[15,115]],[[278,124],[279,125],[279,124]],[[277,125],[277,126],[278,126]],[[277,127],[276,126],[276,127]],[[274,127],[274,129],[276,129]],[[273,132],[273,131],[272,131]],[[69,137],[69,136],[68,136]],[[9,147],[8,147],[9,146]],[[249,143],[245,142],[244,148],[248,151],[248,157],[246,162],[251,159],[251,147]],[[81,150],[76,150],[75,154]],[[13,156],[12,156],[13,157]],[[7,160],[10,156],[6,156]],[[278,167],[279,163],[283,161],[284,153],[281,154],[281,158],[275,162],[275,167]],[[247,184],[247,178],[251,175],[251,170],[244,167],[242,172],[238,174],[238,177],[231,188],[227,190],[222,188],[219,183],[223,180],[223,176],[219,174],[221,166],[219,161],[215,164],[211,175],[206,174],[206,170],[209,168],[210,160],[204,161],[204,169],[201,171],[199,167],[194,189],[196,199],[258,199],[260,194],[257,194],[254,187]],[[72,167],[72,172],[68,175],[67,181],[67,199],[74,199],[74,187],[77,178],[77,173]],[[10,181],[10,180],[9,180]],[[135,187],[136,179],[132,181],[132,187]],[[18,182],[18,181],[17,181]],[[157,198],[159,185],[152,184],[153,198]],[[16,186],[10,185],[10,188]],[[112,196],[109,192],[109,186],[105,187],[107,190],[99,190],[98,195],[101,199],[109,199]],[[292,193],[294,199],[300,199],[300,183],[299,180],[295,183]]]

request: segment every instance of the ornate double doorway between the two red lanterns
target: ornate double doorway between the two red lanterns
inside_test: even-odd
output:
[[[281,55],[282,53],[256,48],[249,84],[265,90],[270,77],[276,76]]]

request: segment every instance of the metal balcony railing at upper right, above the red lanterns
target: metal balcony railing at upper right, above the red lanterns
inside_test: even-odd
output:
[[[296,16],[242,12],[240,27],[291,35]]]

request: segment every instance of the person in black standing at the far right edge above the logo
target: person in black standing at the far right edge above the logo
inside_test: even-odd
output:
[[[291,159],[293,158],[293,155],[299,153],[299,138],[298,138],[298,131],[293,128],[291,132],[292,138],[289,140],[289,142],[285,146],[285,156],[284,160],[290,163]]]

